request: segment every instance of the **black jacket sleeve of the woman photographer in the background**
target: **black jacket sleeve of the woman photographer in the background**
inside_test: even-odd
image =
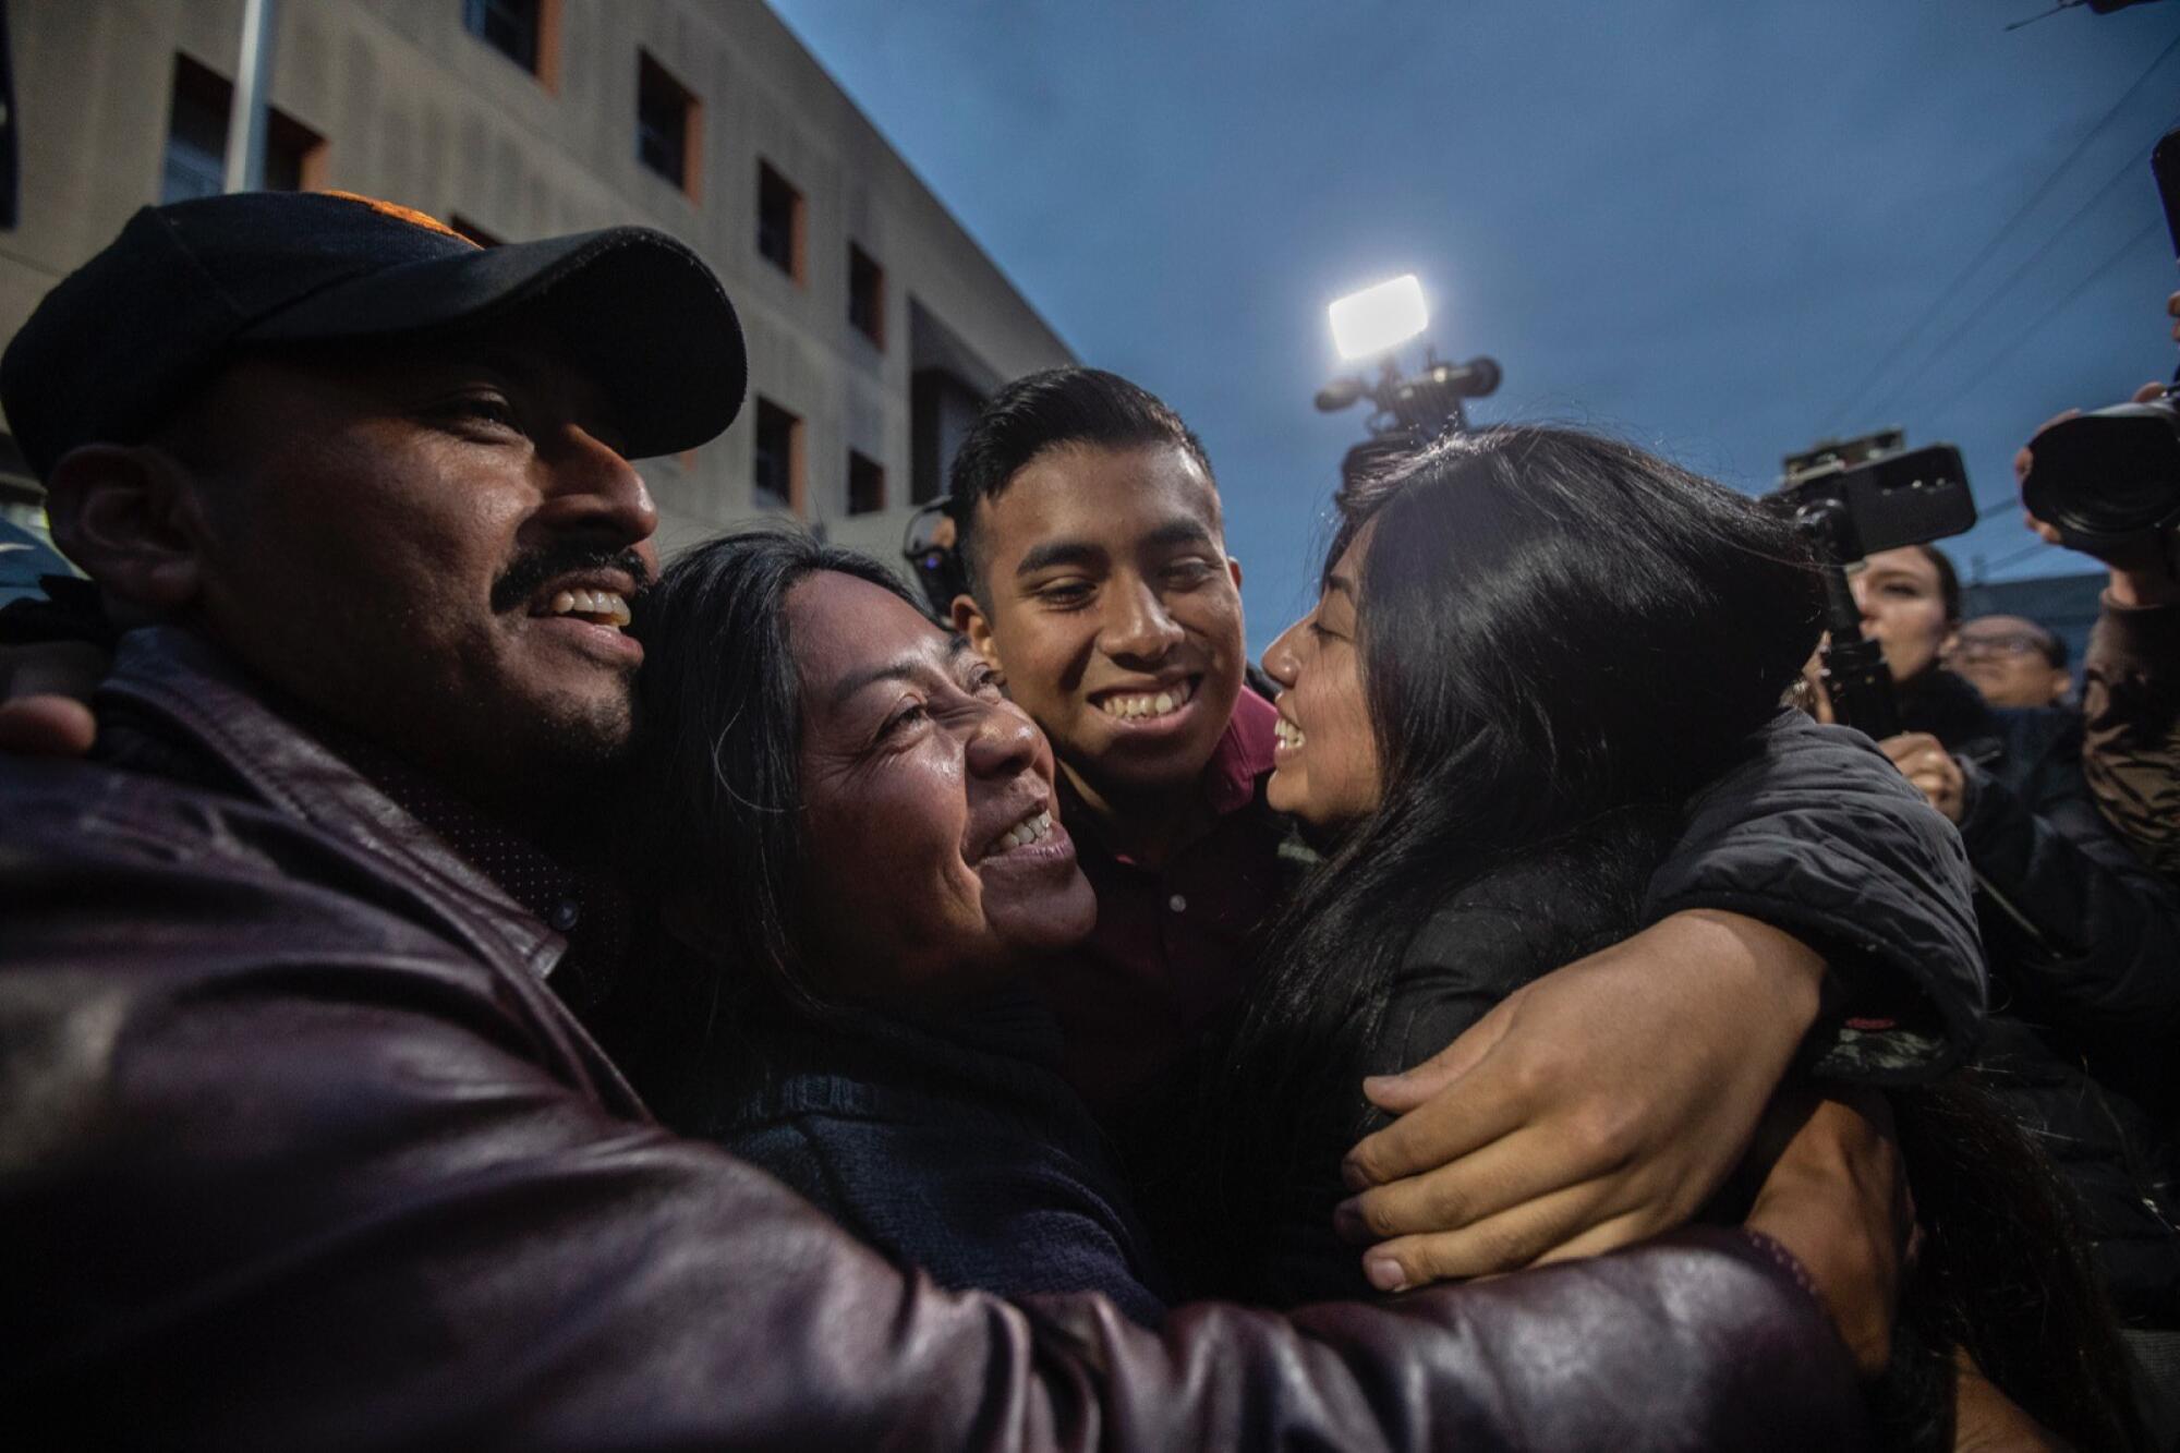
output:
[[[2180,1030],[2180,894],[2121,842],[2073,770],[2073,731],[2034,798],[1973,761],[1960,838],[1993,912],[2003,988],[2078,1034]]]

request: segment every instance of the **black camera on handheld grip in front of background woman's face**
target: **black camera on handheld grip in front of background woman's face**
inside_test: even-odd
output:
[[[1892,672],[1884,648],[1862,635],[1846,567],[1975,524],[1960,449],[1945,443],[1910,449],[1901,430],[1827,439],[1785,458],[1785,478],[1768,502],[1792,517],[1825,578],[1825,692],[1833,716],[1877,740],[1897,735]]]

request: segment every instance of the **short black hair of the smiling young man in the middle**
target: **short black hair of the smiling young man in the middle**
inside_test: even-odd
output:
[[[1173,447],[1192,458],[1203,478],[1212,478],[1212,460],[1182,417],[1155,393],[1118,373],[1066,367],[1014,380],[977,415],[948,480],[955,554],[961,556],[977,604],[992,607],[983,561],[977,559],[977,506],[1003,495],[1029,460],[1064,445]]]

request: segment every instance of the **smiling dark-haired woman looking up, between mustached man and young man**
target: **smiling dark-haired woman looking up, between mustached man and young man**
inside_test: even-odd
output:
[[[1162,1300],[1022,975],[1097,903],[1053,755],[874,561],[728,535],[645,593],[630,881],[671,980],[634,1073],[942,1285]]]

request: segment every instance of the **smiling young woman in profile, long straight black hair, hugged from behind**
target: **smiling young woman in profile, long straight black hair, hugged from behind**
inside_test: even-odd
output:
[[[1321,860],[1262,936],[1186,1189],[1160,1191],[1210,1289],[1275,1305],[1371,1289],[1334,1235],[1341,1156],[1384,1124],[1362,1078],[1637,927],[1692,794],[1818,637],[1785,521],[1611,439],[1450,436],[1336,504],[1319,604],[1264,657],[1267,796]],[[1884,1385],[1894,1446],[1951,1446],[1955,1348],[2060,1431],[2123,1446],[2110,1316],[2049,1165],[1973,1084],[1899,1113],[1931,1246]]]

